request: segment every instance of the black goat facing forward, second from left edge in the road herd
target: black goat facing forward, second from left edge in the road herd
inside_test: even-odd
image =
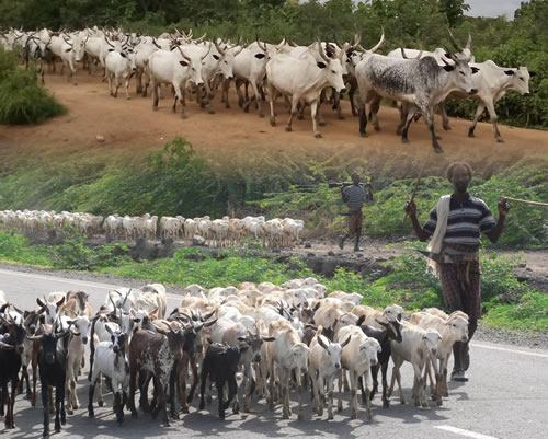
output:
[[[49,325],[48,325],[49,326]],[[53,327],[42,326],[43,334],[27,337],[33,342],[39,342],[38,372],[42,385],[42,404],[44,406],[44,432],[43,437],[49,437],[49,386],[55,388],[55,431],[60,432],[61,425],[66,424],[65,412],[65,385],[67,370],[65,369],[68,354],[68,336],[70,331],[56,333]],[[60,419],[59,419],[60,418]]]

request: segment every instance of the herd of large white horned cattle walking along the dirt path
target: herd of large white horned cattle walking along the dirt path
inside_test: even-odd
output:
[[[290,107],[287,131],[292,130],[294,116],[301,118],[305,106],[310,105],[316,137],[321,137],[318,125],[324,125],[320,103],[327,100],[326,91],[331,90],[333,108],[342,118],[340,96],[349,84],[352,114],[359,116],[362,136],[367,136],[368,119],[375,129],[379,129],[376,115],[379,102],[389,99],[399,103],[401,119],[397,132],[401,134],[402,141],[408,141],[413,118],[422,116],[436,152],[442,152],[442,149],[433,124],[434,106],[441,105],[443,127],[450,129],[444,106],[447,96],[473,96],[479,101],[468,136],[473,137],[476,124],[487,107],[495,138],[503,141],[494,104],[509,90],[523,95],[529,93],[528,81],[534,72],[526,67],[499,67],[492,60],[475,62],[470,36],[467,45],[461,47],[449,31],[455,53],[446,47],[434,51],[399,48],[387,56],[376,54],[384,42],[384,32],[370,49],[364,48],[359,39],[356,35],[351,43],[318,41],[309,46],[297,46],[285,39],[275,45],[256,38],[242,45],[220,38],[207,42],[205,35],[194,38],[192,31],[189,34],[176,31],[156,38],[94,27],[76,32],[10,30],[0,33],[0,47],[19,51],[26,62],[39,62],[42,78],[44,65],[48,62],[55,69],[55,60],[62,61],[68,78],[72,77],[75,83],[79,62],[87,62],[90,72],[101,65],[113,96],[125,81],[126,97],[129,99],[129,79],[135,76],[137,93],[146,96],[151,88],[155,109],[160,85],[171,85],[173,111],[176,112],[179,101],[183,117],[186,100],[193,95],[202,107],[214,113],[213,99],[219,86],[221,102],[228,108],[228,90],[235,80],[238,103],[246,112],[254,103],[263,117],[262,101],[267,95],[273,126],[276,124],[274,102],[283,95],[286,106]],[[246,85],[244,92],[242,85]],[[249,85],[253,92],[251,96]],[[354,102],[356,90],[359,91],[357,105]]]

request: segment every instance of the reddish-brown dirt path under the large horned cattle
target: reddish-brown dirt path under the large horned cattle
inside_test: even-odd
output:
[[[135,155],[158,149],[175,136],[183,136],[199,154],[213,160],[272,154],[322,160],[339,155],[380,155],[401,158],[408,165],[431,151],[430,137],[422,122],[412,125],[411,142],[401,143],[393,132],[398,114],[392,108],[383,107],[380,111],[383,130],[375,132],[372,128],[369,137],[363,139],[358,136],[358,123],[352,117],[347,101],[343,102],[344,120],[338,120],[335,114],[324,106],[327,126],[321,127],[323,139],[315,139],[309,113],[305,120],[294,122],[293,132],[285,132],[287,113],[282,100],[276,105],[276,127],[271,127],[267,117],[259,118],[254,108],[249,114],[242,113],[236,104],[236,93],[230,96],[231,109],[226,109],[217,96],[216,114],[210,115],[195,102],[190,102],[186,106],[189,118],[181,119],[171,113],[171,99],[161,100],[158,112],[152,112],[151,100],[137,96],[133,81],[130,101],[123,97],[123,89],[118,99],[110,97],[107,85],[99,76],[89,77],[80,71],[78,82],[78,86],[73,86],[59,74],[46,74],[47,88],[69,108],[68,114],[38,126],[0,126],[0,147],[38,154],[52,149],[62,152],[95,148]],[[267,103],[264,109],[267,115]],[[501,126],[505,143],[496,143],[489,124],[479,124],[477,138],[469,139],[469,124],[468,120],[452,119],[453,130],[441,132],[445,154],[432,153],[431,160],[439,163],[465,158],[476,163],[502,160],[511,164],[521,158],[548,154],[546,131]],[[103,143],[96,141],[98,135],[105,138]]]

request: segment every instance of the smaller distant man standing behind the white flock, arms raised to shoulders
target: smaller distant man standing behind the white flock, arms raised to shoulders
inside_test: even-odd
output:
[[[362,227],[364,223],[364,213],[362,208],[365,201],[373,200],[372,186],[368,185],[368,193],[365,192],[363,183],[359,183],[357,172],[352,174],[352,184],[341,185],[341,196],[349,208],[349,233],[339,238],[339,247],[343,250],[346,238],[356,236],[354,252],[361,252],[359,238],[362,236]]]

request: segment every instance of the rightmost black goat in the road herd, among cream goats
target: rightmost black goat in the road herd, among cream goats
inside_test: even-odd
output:
[[[388,370],[388,361],[390,360],[390,356],[392,355],[392,348],[390,346],[390,342],[395,340],[401,342],[401,331],[399,322],[383,322],[380,320],[376,320],[376,322],[384,327],[384,330],[378,330],[376,327],[369,325],[362,325],[364,321],[364,316],[361,316],[357,321],[357,325],[362,328],[365,335],[368,337],[375,338],[380,345],[380,353],[378,354],[378,362],[375,366],[372,366],[372,377],[373,377],[373,390],[370,393],[370,398],[375,396],[375,393],[378,392],[378,370],[380,368],[383,374],[383,407],[388,408],[389,402],[388,396],[386,395],[386,391],[388,388],[388,381],[386,379],[386,373]],[[359,386],[362,389],[362,401],[365,404],[365,389],[364,382],[362,378],[359,378]]]

